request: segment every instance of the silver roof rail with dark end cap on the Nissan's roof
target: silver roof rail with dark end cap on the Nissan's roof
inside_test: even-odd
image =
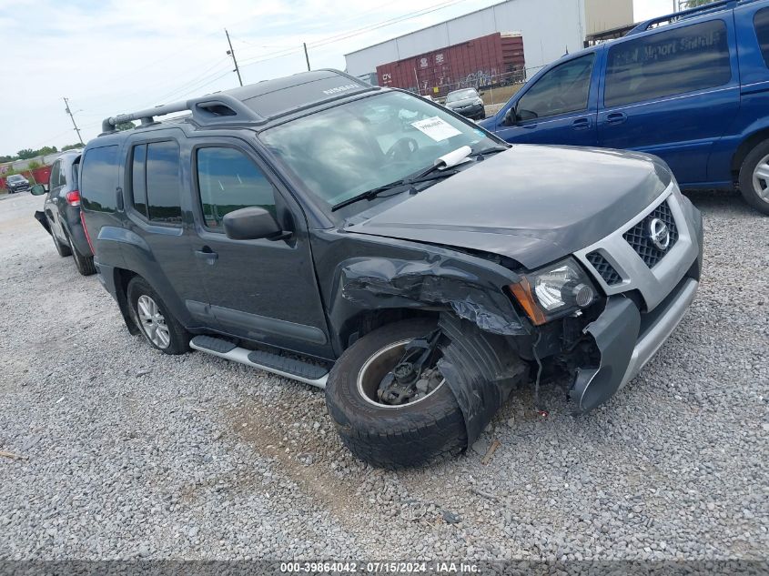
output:
[[[248,106],[234,96],[228,94],[212,94],[200,96],[176,104],[164,104],[139,110],[129,114],[109,116],[102,121],[102,135],[116,132],[118,124],[139,120],[141,126],[150,126],[156,123],[155,116],[167,116],[176,112],[192,112],[192,119],[201,126],[211,124],[242,124],[243,122],[263,122],[264,117],[259,116]],[[100,136],[102,136],[100,135]]]

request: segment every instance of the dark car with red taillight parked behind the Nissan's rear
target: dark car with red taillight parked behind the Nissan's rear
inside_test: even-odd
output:
[[[43,210],[35,212],[35,218],[54,238],[59,256],[72,256],[77,271],[90,276],[96,274],[96,268],[80,213],[79,168],[79,152],[61,155],[51,168],[48,190],[37,184],[32,187],[32,194],[46,195]]]

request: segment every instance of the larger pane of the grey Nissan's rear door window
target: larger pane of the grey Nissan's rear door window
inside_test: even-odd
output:
[[[155,222],[181,223],[179,147],[176,142],[147,144],[147,214]]]

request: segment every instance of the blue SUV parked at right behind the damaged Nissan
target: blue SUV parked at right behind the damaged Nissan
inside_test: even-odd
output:
[[[681,187],[738,187],[769,214],[769,0],[714,2],[564,56],[481,126],[654,154]]]

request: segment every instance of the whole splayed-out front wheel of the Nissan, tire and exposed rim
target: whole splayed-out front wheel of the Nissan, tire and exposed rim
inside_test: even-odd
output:
[[[331,370],[326,404],[360,460],[419,466],[466,448],[460,406],[437,368],[439,339],[433,320],[390,324],[355,342]]]

